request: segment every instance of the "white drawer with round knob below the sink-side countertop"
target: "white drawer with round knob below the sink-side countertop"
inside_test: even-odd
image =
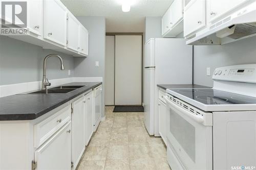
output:
[[[71,105],[54,113],[52,116],[34,126],[34,147],[38,148],[63,125],[71,120]]]

